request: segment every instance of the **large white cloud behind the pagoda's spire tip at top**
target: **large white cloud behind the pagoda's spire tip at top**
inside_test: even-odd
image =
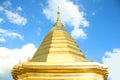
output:
[[[86,37],[86,33],[80,27],[88,27],[89,22],[85,18],[85,13],[79,10],[78,5],[75,5],[71,0],[47,0],[47,3],[48,6],[43,9],[43,13],[46,15],[47,19],[52,22],[56,21],[56,13],[59,6],[61,11],[61,21],[64,24],[68,24],[73,27],[71,35],[74,38]],[[77,30],[77,32],[75,32],[75,30]]]

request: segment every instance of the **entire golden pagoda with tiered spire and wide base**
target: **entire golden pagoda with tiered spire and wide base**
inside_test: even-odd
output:
[[[60,11],[50,32],[32,59],[12,69],[14,80],[107,80],[107,67],[89,62],[60,21]]]

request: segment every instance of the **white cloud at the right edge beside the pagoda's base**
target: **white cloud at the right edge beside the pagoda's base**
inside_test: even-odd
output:
[[[108,66],[110,80],[120,80],[120,48],[107,51],[103,57],[103,63]]]

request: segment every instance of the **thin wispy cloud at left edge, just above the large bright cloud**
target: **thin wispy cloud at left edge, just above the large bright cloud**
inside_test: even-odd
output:
[[[0,28],[0,42],[5,42],[7,37],[9,37],[9,38],[19,38],[21,40],[24,40],[23,36],[20,35],[19,33],[10,32],[8,30]]]

